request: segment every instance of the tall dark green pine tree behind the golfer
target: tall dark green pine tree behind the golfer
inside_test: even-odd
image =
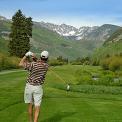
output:
[[[32,18],[26,18],[21,10],[12,17],[12,26],[9,41],[9,53],[12,56],[23,57],[30,49],[32,37]]]

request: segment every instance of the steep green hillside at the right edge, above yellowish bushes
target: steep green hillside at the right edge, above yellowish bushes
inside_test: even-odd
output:
[[[103,44],[101,48],[95,50],[93,57],[100,59],[106,55],[122,53],[122,28],[114,32]]]

